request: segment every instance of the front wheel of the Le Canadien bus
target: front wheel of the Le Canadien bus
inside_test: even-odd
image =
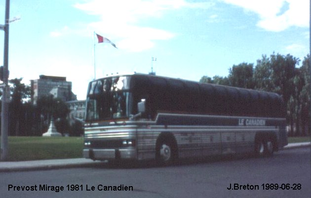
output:
[[[156,162],[159,165],[169,165],[178,158],[177,144],[173,137],[160,138],[156,144]]]

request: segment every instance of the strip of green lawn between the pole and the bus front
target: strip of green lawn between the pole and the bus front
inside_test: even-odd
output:
[[[82,157],[81,137],[8,137],[7,161]]]

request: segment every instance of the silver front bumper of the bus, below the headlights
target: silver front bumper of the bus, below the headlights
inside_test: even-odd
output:
[[[87,148],[83,149],[83,157],[93,160],[105,160],[105,159],[136,159],[136,149],[124,148],[124,149],[96,149]]]

